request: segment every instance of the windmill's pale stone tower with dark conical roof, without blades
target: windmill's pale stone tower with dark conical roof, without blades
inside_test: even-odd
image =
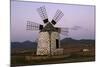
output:
[[[39,33],[37,55],[62,55],[60,30],[48,23]]]

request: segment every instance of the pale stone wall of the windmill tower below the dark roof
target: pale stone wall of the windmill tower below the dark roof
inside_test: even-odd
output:
[[[63,49],[60,48],[60,41],[59,48],[56,48],[56,39],[60,39],[58,32],[52,32],[51,37],[49,37],[48,32],[40,32],[37,46],[37,55],[50,55],[50,51],[51,55],[63,54]]]

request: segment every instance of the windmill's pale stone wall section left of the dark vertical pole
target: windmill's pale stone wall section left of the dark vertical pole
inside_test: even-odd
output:
[[[47,55],[49,54],[50,39],[48,32],[40,32],[37,46],[37,55]]]

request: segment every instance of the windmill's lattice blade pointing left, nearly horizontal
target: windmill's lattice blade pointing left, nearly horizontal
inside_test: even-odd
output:
[[[26,30],[42,30],[43,29],[43,25],[35,23],[35,22],[31,22],[31,21],[27,21],[27,28]]]

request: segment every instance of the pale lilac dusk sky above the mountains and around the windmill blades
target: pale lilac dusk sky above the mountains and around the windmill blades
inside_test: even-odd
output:
[[[61,39],[71,37],[73,39],[95,39],[95,6],[74,5],[41,2],[11,1],[11,41],[23,42],[26,40],[36,41],[39,31],[26,30],[27,21],[43,24],[37,8],[45,6],[49,21],[52,20],[57,9],[60,9],[64,16],[57,22],[55,27],[74,28],[69,30],[68,36],[61,36]]]

